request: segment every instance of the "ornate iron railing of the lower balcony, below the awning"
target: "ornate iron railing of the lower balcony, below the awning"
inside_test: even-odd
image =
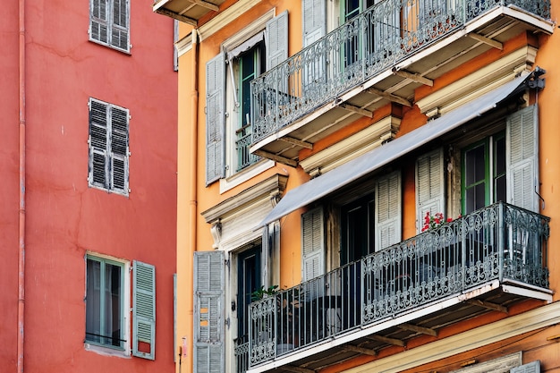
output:
[[[549,220],[499,202],[254,301],[249,367],[496,280],[547,289]]]

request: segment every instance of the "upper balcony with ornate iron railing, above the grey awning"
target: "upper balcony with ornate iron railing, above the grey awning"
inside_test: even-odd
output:
[[[302,148],[388,103],[412,106],[415,89],[489,49],[552,33],[549,18],[549,0],[382,1],[252,81],[250,151],[297,165]]]

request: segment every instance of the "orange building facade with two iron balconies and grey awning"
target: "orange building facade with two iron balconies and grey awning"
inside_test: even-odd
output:
[[[556,5],[156,2],[177,371],[558,369]]]

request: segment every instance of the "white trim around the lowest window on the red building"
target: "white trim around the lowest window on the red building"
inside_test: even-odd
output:
[[[107,259],[107,260],[112,260],[115,261],[117,263],[122,263],[123,264],[123,339],[124,339],[124,343],[123,343],[123,350],[120,349],[114,349],[114,348],[110,348],[110,347],[105,347],[101,344],[96,344],[96,343],[89,343],[89,342],[84,342],[84,348],[86,351],[91,351],[91,352],[96,352],[100,355],[105,355],[105,356],[116,356],[116,357],[122,357],[122,358],[130,358],[132,356],[132,351],[131,351],[131,320],[132,317],[130,315],[130,309],[131,309],[131,263],[128,260],[123,260],[123,259],[118,259],[115,257],[111,257],[109,255],[106,254],[99,254],[98,252],[93,252],[93,251],[86,251],[86,255],[84,256],[84,300],[86,299],[86,296],[88,294],[88,284],[87,284],[87,278],[88,278],[88,256],[89,257],[94,257],[94,258],[98,258],[98,259]],[[84,326],[86,325],[85,323],[86,319],[85,319],[85,301],[84,301]],[[85,335],[85,327],[84,327],[84,335]]]

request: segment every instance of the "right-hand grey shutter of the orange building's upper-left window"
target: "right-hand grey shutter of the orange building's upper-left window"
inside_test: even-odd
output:
[[[288,58],[288,11],[267,21],[267,70]]]

